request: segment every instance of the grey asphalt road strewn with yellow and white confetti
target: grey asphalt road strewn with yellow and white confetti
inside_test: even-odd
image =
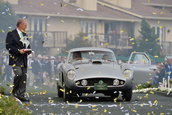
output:
[[[121,96],[120,96],[121,97]],[[63,102],[56,94],[30,94],[30,103],[23,103],[33,115],[171,115],[172,98],[158,94],[133,94],[130,102],[116,102],[103,95],[88,95]]]

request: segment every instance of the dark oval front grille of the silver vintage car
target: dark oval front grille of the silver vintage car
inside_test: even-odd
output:
[[[94,79],[84,79],[87,80],[87,85],[86,86],[94,86],[95,83],[98,83],[100,80],[102,80],[104,83],[106,83],[108,86],[113,86],[113,81],[115,79],[112,78],[94,78]],[[119,79],[118,79],[119,80]],[[76,81],[76,84],[78,86],[82,86],[81,85],[82,80],[78,80]],[[124,85],[125,81],[124,80],[119,80],[119,85]]]

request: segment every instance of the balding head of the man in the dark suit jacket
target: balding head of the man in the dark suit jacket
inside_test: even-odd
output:
[[[17,21],[17,28],[20,30],[20,31],[25,31],[26,30],[26,28],[27,28],[27,22],[26,22],[26,20],[24,20],[24,19],[19,19],[18,21]]]

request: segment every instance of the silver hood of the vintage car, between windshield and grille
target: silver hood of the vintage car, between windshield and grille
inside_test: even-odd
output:
[[[121,68],[116,64],[81,64],[76,65],[75,80],[90,78],[119,78],[125,80]]]

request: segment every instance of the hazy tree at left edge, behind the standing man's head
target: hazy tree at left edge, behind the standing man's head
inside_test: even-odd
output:
[[[8,2],[0,0],[0,51],[5,48],[7,32],[15,28],[17,16]]]

